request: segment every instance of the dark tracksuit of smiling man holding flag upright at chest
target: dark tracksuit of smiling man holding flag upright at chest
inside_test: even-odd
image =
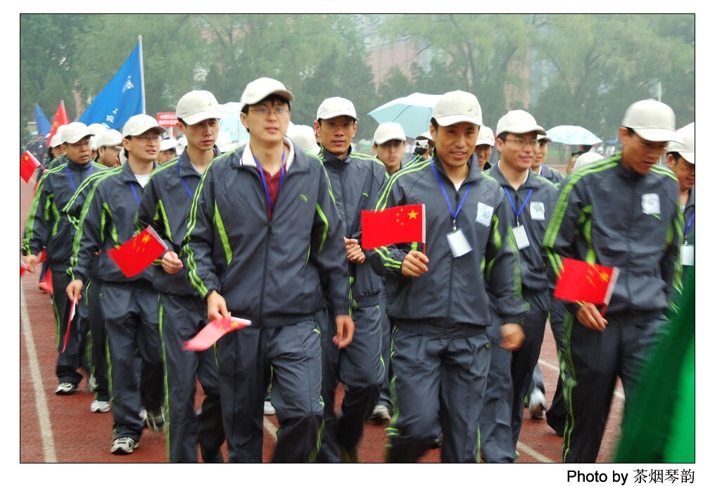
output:
[[[450,414],[450,420],[440,421],[445,436],[443,462],[475,462],[478,415],[489,362],[486,329],[506,323],[522,324],[528,310],[528,304],[521,299],[518,250],[508,225],[511,207],[503,189],[480,172],[475,155],[468,163],[470,172],[458,190],[436,155],[430,161],[405,167],[390,177],[375,207],[381,210],[425,204],[425,245],[396,244],[368,252],[370,264],[388,277],[388,315],[395,325],[393,364],[399,411],[388,429],[390,461],[411,462],[422,455],[435,434],[430,421],[439,412]],[[446,236],[453,231],[453,218],[442,188],[453,210],[463,202],[456,227],[463,232],[471,251],[457,258]],[[416,278],[404,277],[401,266],[405,255],[410,249],[423,248],[430,259],[428,272]],[[422,339],[414,339],[417,335]],[[404,339],[400,341],[403,350],[398,349],[398,339]],[[425,356],[420,342],[450,349],[463,345],[460,343],[474,343],[478,348],[454,351],[457,354],[445,349],[444,358],[440,354],[430,362],[418,363],[415,361]],[[433,354],[428,352],[428,356]],[[433,384],[431,372],[424,377],[420,373],[427,365],[433,366],[435,359],[442,360],[440,366],[447,362],[453,365],[455,359],[470,362],[465,364],[468,370],[464,370],[469,380],[455,374]],[[423,382],[430,382],[430,388]],[[465,394],[470,400],[450,403],[448,410],[437,406],[437,395],[441,403],[446,397]],[[462,420],[467,420],[469,426],[457,425]]]

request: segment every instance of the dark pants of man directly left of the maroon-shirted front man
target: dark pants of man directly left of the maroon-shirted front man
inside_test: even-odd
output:
[[[197,462],[197,443],[215,455],[225,440],[215,347],[201,352],[182,348],[207,324],[206,312],[199,296],[159,294],[169,462]],[[206,395],[199,415],[194,411],[197,378]]]

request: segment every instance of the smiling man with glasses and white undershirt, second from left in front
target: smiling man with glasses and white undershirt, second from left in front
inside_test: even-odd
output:
[[[163,133],[164,128],[146,114],[134,115],[124,124],[127,163],[110,169],[84,202],[67,271],[71,282],[66,292],[71,300],[81,298],[91,271],[92,279],[96,274],[102,286],[99,304],[107,327],[114,415],[112,454],[134,452],[144,429],[142,407],[149,428],[164,430],[164,365],[158,294],[152,284],[155,269],[150,266],[135,277],[126,277],[107,255],[107,250],[137,232],[134,219],[149,175],[157,167]]]

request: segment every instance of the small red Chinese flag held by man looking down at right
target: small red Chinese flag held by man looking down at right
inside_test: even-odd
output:
[[[606,304],[616,287],[619,270],[571,258],[562,258],[563,269],[556,280],[553,297],[569,302]]]

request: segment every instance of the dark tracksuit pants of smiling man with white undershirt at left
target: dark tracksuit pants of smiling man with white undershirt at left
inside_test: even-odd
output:
[[[164,403],[159,297],[147,287],[102,282],[99,302],[107,323],[114,438],[138,442],[140,410],[158,413]]]

